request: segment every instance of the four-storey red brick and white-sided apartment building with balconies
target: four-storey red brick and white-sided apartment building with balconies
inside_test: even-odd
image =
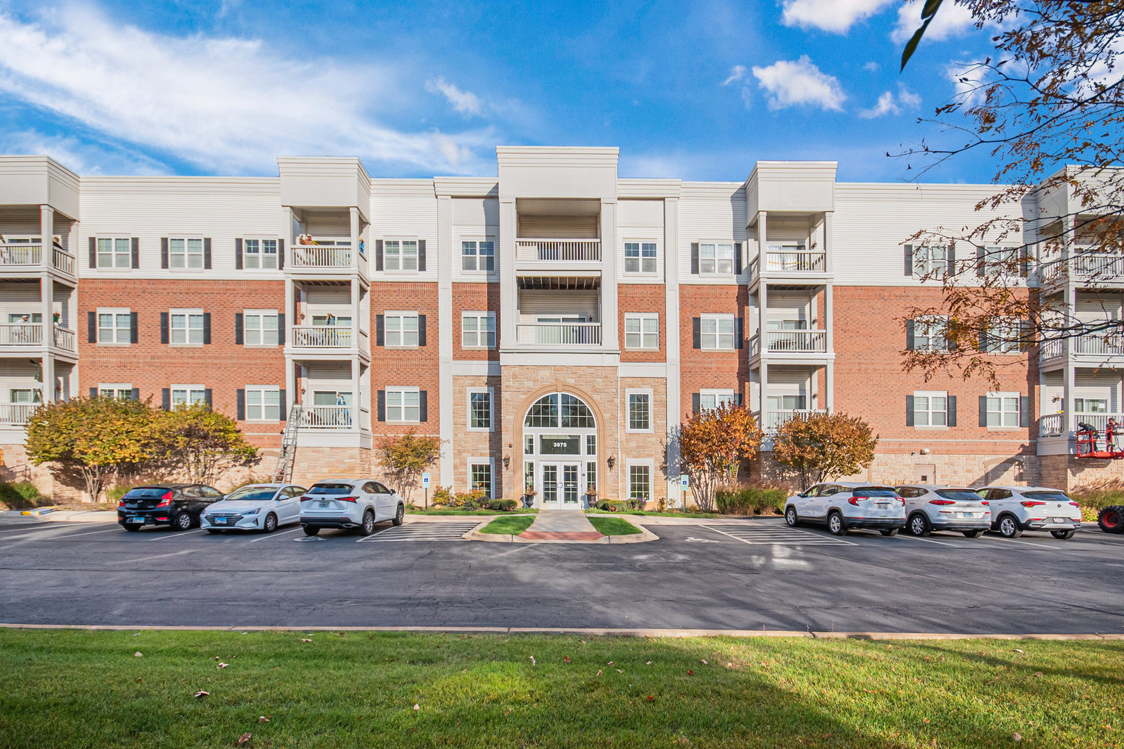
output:
[[[80,177],[0,157],[6,475],[49,484],[27,465],[24,421],[98,392],[205,401],[237,417],[266,471],[299,419],[298,482],[378,473],[381,436],[436,435],[435,483],[534,485],[549,506],[587,490],[677,496],[669,431],[725,401],[767,432],[821,410],[863,417],[880,436],[873,481],[1068,486],[1113,471],[1070,454],[1078,420],[1124,410],[1122,351],[996,346],[1010,365],[998,392],[901,371],[923,335],[906,310],[941,298],[919,276],[948,262],[904,243],[989,218],[975,207],[994,186],[839,183],[832,162],[623,179],[616,148],[497,157],[498,177],[425,180],[372,179],[357,158],[282,157],[277,177]],[[1069,200],[1025,210],[1049,222]],[[1079,259],[1032,257],[1024,283],[1118,314]],[[751,471],[772,476],[768,448]]]

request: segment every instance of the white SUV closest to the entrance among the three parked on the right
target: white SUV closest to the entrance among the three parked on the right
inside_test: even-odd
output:
[[[835,536],[859,528],[894,536],[906,524],[905,501],[892,486],[851,481],[816,484],[786,500],[785,522],[823,523]]]

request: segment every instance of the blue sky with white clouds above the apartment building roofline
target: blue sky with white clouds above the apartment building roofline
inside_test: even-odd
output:
[[[283,4],[283,7],[281,7]],[[622,176],[743,180],[758,159],[886,157],[987,34],[958,6],[904,74],[903,0],[0,0],[0,152],[82,174],[265,174],[357,155],[374,176],[496,173],[495,146],[620,147]],[[962,158],[928,182],[987,182]]]

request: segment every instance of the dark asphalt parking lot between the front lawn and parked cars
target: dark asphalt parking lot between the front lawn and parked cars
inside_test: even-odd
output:
[[[0,523],[0,621],[37,624],[1124,632],[1124,536],[836,538],[660,519],[635,545]]]

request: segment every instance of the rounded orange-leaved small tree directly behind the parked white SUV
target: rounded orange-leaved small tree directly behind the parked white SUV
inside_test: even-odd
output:
[[[773,459],[792,468],[805,490],[859,473],[873,462],[877,445],[870,424],[859,417],[813,413],[781,424],[773,439]]]

